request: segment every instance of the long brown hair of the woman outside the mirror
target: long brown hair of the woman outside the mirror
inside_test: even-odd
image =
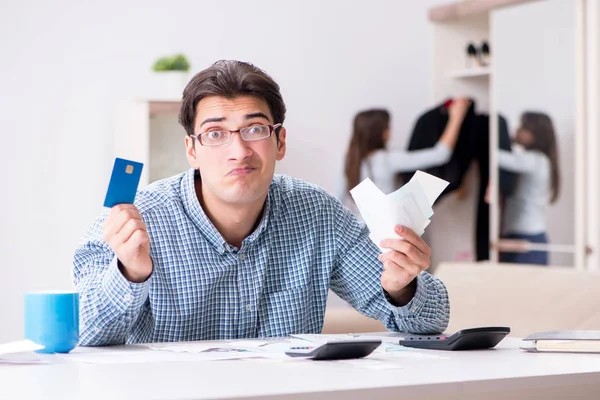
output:
[[[356,114],[344,164],[347,190],[358,185],[363,160],[373,151],[385,148],[383,133],[389,127],[390,114],[387,110],[373,109]]]

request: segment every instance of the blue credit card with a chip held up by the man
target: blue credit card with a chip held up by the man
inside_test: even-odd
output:
[[[142,177],[143,167],[144,164],[139,162],[123,158],[115,159],[106,198],[104,199],[104,207],[124,203],[133,204]]]

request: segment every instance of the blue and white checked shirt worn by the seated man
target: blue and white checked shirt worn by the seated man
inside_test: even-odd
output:
[[[446,328],[444,285],[423,272],[409,304],[390,304],[368,229],[324,190],[276,175],[261,221],[238,249],[204,213],[194,179],[189,170],[136,197],[154,263],[146,282],[121,274],[103,240],[107,213],[85,234],[74,256],[81,345],[320,333],[330,288],[389,330]]]

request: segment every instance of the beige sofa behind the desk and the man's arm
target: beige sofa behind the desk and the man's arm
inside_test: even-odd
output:
[[[509,326],[511,336],[553,329],[600,330],[600,274],[573,268],[442,263],[435,270],[450,296],[447,332]],[[323,333],[384,331],[349,306],[328,307]]]

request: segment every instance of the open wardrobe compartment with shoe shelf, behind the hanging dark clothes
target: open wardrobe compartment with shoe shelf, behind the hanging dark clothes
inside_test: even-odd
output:
[[[490,111],[493,65],[473,65],[473,60],[468,58],[467,46],[469,43],[480,46],[487,41],[493,56],[493,43],[489,12],[481,11],[480,4],[477,4],[477,10],[480,11],[473,12],[475,3],[483,2],[455,2],[432,9],[429,13],[433,23],[431,99],[435,105],[448,98],[467,96],[475,101],[476,111],[481,113]],[[462,190],[444,197],[436,205],[426,238],[431,248],[435,249],[432,265],[443,261],[475,259],[475,210],[479,188],[476,167],[473,164],[468,171]]]

